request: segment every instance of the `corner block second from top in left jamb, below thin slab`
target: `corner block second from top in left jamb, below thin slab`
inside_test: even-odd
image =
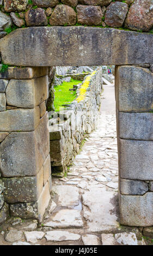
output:
[[[48,77],[10,80],[6,89],[7,105],[33,108],[48,98]]]

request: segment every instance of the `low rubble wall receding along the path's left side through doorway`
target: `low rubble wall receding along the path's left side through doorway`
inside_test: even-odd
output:
[[[84,83],[84,82],[83,82]],[[100,94],[102,92],[101,68],[91,77],[85,98],[73,101],[64,111],[55,113],[50,123],[62,119],[59,124],[50,126],[51,166],[53,172],[63,172],[70,166],[81,147],[85,133],[95,129],[97,114],[100,107]],[[80,95],[80,88],[77,95]]]

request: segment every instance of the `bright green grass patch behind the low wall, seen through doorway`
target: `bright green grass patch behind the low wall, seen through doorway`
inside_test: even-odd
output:
[[[73,88],[74,84],[82,83],[80,80],[74,80],[71,78],[70,82],[63,82],[60,86],[55,86],[55,99],[54,99],[54,108],[55,111],[59,111],[59,108],[64,104],[71,103],[76,98],[76,91],[70,91],[69,89]]]

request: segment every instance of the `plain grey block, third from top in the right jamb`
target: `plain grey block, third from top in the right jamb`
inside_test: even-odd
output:
[[[123,179],[153,180],[153,141],[119,140],[119,172]]]

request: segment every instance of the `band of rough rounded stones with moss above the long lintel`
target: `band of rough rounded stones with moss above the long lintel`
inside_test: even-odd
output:
[[[152,33],[151,0],[1,0],[0,3],[0,38],[16,28],[30,26],[85,25]]]

